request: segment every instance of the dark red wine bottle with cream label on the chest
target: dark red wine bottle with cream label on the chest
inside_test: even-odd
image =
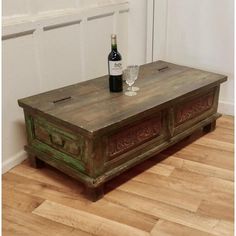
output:
[[[111,52],[108,55],[109,88],[111,92],[123,90],[122,57],[117,50],[116,35],[111,35]]]

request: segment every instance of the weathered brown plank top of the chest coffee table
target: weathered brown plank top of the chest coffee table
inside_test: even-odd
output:
[[[226,76],[157,61],[140,66],[137,95],[111,93],[108,76],[20,99],[19,105],[94,134],[176,98],[226,81]],[[124,82],[124,90],[126,85]]]

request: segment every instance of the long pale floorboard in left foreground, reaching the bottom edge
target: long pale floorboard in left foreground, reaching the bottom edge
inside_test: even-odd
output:
[[[120,224],[85,211],[75,210],[48,200],[36,208],[33,213],[63,225],[75,227],[76,229],[83,230],[93,235],[149,235],[147,232],[137,228]]]

